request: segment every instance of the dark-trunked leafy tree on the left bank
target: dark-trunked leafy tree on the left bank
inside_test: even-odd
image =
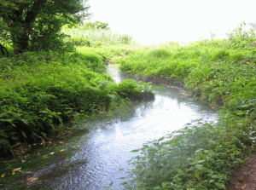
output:
[[[7,26],[15,54],[29,43],[49,45],[61,37],[61,26],[88,17],[87,0],[0,0],[0,18]],[[63,36],[63,35],[62,35]]]

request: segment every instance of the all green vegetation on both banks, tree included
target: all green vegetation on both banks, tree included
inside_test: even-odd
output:
[[[15,172],[29,172],[28,162],[36,164],[54,150],[49,146],[47,153],[41,149],[39,155],[25,154],[35,142],[46,145],[54,135],[71,133],[69,127],[63,130],[65,124],[154,98],[148,84],[129,79],[114,83],[106,72],[109,62],[145,81],[183,86],[195,99],[219,109],[217,124],[192,121],[183,130],[134,150],[141,154],[131,160],[132,180],[125,188],[224,189],[230,168],[254,152],[254,31],[243,31],[241,24],[222,40],[144,47],[128,35],[113,34],[108,23],[81,26],[89,14],[76,13],[89,7],[79,1],[56,1],[60,6],[34,3],[32,10],[48,10],[40,14],[27,14],[31,6],[26,1],[15,3],[0,2],[1,8],[8,8],[0,14],[0,153],[16,158],[2,159],[1,184],[9,186]],[[15,14],[17,9],[26,11]],[[62,150],[60,146],[57,152]],[[44,164],[47,161],[40,167]]]

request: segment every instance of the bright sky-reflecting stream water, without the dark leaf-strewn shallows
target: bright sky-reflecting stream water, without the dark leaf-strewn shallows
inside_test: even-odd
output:
[[[108,66],[108,72],[119,83],[122,79],[118,68]],[[101,125],[92,130],[88,140],[80,140],[80,147],[71,158],[73,168],[67,175],[55,179],[55,189],[122,189],[120,177],[127,176],[121,168],[131,167],[126,162],[137,153],[131,150],[143,147],[143,143],[153,141],[194,119],[216,121],[215,111],[196,102],[185,91],[176,88],[154,89],[155,100],[137,105],[132,118],[97,121],[91,125]],[[97,127],[96,127],[97,128]]]

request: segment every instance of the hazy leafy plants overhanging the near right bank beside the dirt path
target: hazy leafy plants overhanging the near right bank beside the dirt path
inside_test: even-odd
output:
[[[195,121],[134,150],[140,156],[130,161],[135,166],[133,180],[124,185],[126,189],[224,189],[230,167],[241,162],[243,148],[224,125]]]

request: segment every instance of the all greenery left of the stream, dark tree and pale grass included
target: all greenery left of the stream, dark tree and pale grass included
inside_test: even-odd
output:
[[[0,8],[0,186],[23,189],[34,181],[26,174],[75,147],[63,142],[81,131],[73,124],[113,117],[154,95],[146,83],[108,75],[109,60],[134,52],[132,37],[99,21],[82,30],[86,0],[0,1]]]

